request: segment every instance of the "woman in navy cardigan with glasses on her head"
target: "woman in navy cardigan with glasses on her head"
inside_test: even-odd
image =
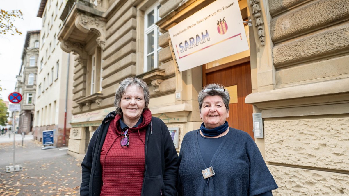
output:
[[[220,84],[199,92],[200,129],[188,132],[179,152],[179,195],[272,195],[278,188],[257,145],[229,127],[229,93]]]

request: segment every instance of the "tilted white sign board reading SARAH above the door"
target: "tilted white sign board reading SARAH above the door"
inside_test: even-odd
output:
[[[169,34],[180,71],[248,50],[238,0],[216,0]]]

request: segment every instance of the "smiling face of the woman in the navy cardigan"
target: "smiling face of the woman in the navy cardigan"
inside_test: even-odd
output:
[[[213,129],[224,124],[229,117],[221,96],[206,96],[202,101],[200,118],[207,129]]]

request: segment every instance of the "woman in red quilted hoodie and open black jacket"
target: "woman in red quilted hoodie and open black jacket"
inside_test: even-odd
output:
[[[177,195],[178,156],[165,123],[151,116],[149,87],[126,78],[116,111],[95,131],[81,164],[80,195]]]

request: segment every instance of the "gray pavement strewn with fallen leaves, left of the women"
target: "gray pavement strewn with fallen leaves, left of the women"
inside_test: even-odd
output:
[[[0,195],[80,195],[81,161],[69,156],[67,148],[41,150],[41,143],[34,140],[25,140],[22,146],[16,137],[15,165],[22,165],[23,171],[6,173],[6,166],[13,165],[11,139],[0,142]]]

